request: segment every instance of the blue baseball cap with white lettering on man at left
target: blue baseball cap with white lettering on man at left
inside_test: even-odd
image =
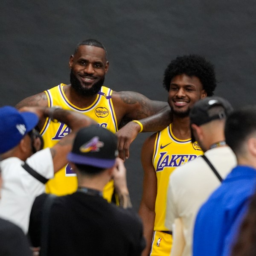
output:
[[[38,124],[32,112],[19,112],[11,106],[0,108],[0,154],[14,148]]]

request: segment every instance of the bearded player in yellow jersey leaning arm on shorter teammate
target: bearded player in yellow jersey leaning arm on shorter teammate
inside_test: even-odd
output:
[[[123,159],[129,156],[129,145],[138,132],[160,131],[171,122],[170,109],[166,102],[152,101],[140,93],[116,92],[103,86],[109,63],[107,51],[99,41],[88,39],[79,43],[74,54],[70,56],[69,66],[70,84],[60,84],[30,96],[16,107],[60,106],[84,113],[100,126],[117,132],[119,156]],[[124,121],[130,122],[118,131]],[[49,119],[39,123],[38,129],[43,135],[45,147],[54,145],[61,137],[70,133],[70,128],[63,123],[55,123]],[[56,195],[75,192],[77,181],[74,175],[70,166],[61,169],[47,183],[47,192]],[[112,194],[113,182],[110,182],[105,187],[103,196],[110,201]]]

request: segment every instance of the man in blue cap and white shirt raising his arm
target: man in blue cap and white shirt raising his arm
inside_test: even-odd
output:
[[[40,140],[34,128],[41,118],[47,117],[66,123],[72,133],[52,148],[39,150]],[[0,120],[0,217],[17,224],[26,234],[35,197],[44,193],[48,179],[67,164],[66,156],[76,131],[95,122],[60,108],[26,107],[20,112],[11,106],[0,108]]]

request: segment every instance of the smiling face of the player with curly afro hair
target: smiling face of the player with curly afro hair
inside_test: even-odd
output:
[[[198,77],[182,74],[171,80],[168,103],[174,115],[185,117],[189,115],[195,102],[206,96]]]

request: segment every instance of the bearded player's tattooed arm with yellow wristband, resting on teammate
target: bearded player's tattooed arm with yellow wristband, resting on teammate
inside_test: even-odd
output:
[[[119,128],[124,125],[116,134],[119,157],[122,159],[129,157],[129,146],[140,132],[140,125],[132,120],[140,120],[143,132],[161,131],[172,122],[167,102],[150,100],[140,93],[130,91],[113,92],[112,100]]]

